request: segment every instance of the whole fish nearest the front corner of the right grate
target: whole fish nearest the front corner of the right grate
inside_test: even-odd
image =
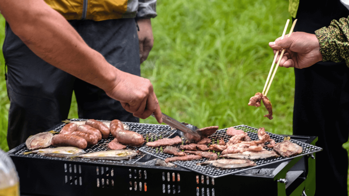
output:
[[[218,168],[227,168],[227,169],[235,169],[235,168],[244,168],[244,167],[252,167],[256,166],[253,161],[248,159],[218,159],[213,161],[205,161],[202,163],[197,163],[196,165],[212,165]]]

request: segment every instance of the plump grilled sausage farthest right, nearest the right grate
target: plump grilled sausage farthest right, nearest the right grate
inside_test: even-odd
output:
[[[141,134],[134,131],[120,130],[116,134],[118,142],[130,146],[141,146],[144,143],[144,138]]]

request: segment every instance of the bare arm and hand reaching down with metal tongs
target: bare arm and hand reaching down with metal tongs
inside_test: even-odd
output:
[[[155,113],[161,122],[150,81],[110,65],[43,0],[1,0],[0,11],[12,31],[40,58],[103,89],[135,116],[144,119]]]

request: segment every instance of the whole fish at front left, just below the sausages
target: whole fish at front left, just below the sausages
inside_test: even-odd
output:
[[[34,150],[30,152],[24,152],[24,154],[36,153],[49,157],[73,157],[79,154],[85,153],[84,150],[76,147],[57,147],[57,148],[44,148]]]

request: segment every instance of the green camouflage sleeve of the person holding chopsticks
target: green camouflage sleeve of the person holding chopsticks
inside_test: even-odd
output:
[[[323,61],[340,62],[343,59],[349,67],[349,17],[333,20],[328,28],[315,31],[320,43]]]

